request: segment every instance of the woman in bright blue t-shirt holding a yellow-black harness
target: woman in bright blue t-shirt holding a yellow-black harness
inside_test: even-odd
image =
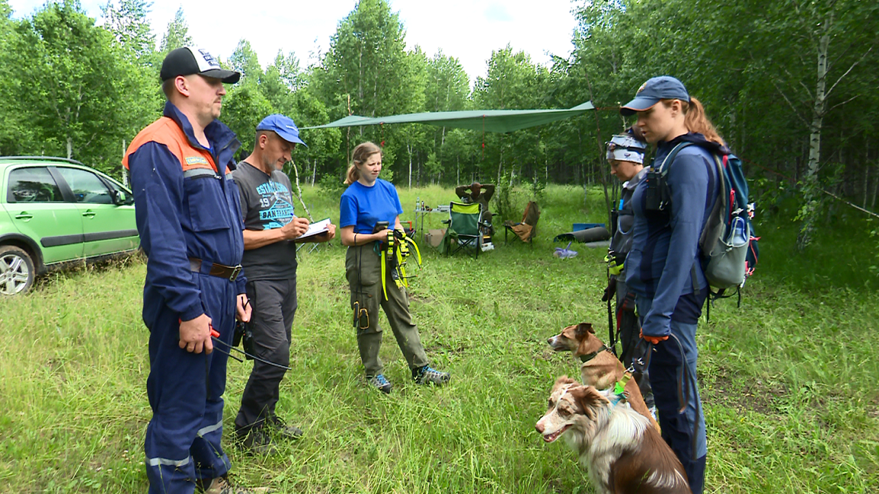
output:
[[[379,349],[381,328],[378,324],[379,306],[388,316],[391,330],[400,345],[406,362],[412,371],[412,379],[418,384],[444,384],[449,374],[430,367],[425,347],[421,345],[418,328],[412,323],[409,299],[402,287],[393,280],[395,272],[386,266],[386,286],[381,286],[381,249],[389,229],[376,231],[378,222],[387,222],[393,229],[403,229],[400,224],[400,198],[394,185],[379,178],[381,172],[381,148],[373,142],[363,142],[352,153],[345,185],[339,204],[341,240],[348,246],[345,253],[345,276],[351,287],[353,324],[357,331],[360,360],[366,369],[367,381],[375,388],[390,393],[391,384],[385,378]],[[385,298],[387,294],[387,298]]]

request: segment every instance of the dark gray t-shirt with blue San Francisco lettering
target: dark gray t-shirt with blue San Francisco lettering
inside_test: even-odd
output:
[[[295,217],[290,178],[281,171],[264,171],[238,163],[232,178],[241,191],[244,229],[280,229]],[[296,275],[296,244],[281,240],[244,251],[241,261],[247,280],[287,280]]]

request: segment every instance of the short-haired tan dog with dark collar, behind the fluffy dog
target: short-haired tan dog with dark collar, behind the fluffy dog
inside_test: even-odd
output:
[[[622,365],[622,362],[614,357],[613,353],[608,352],[607,345],[595,336],[595,330],[592,329],[590,323],[568,326],[560,334],[549,338],[547,343],[556,352],[572,352],[575,357],[579,357],[583,362],[583,365],[580,366],[580,377],[584,384],[594,388],[612,388],[614,383],[620,381],[622,374],[626,372],[626,367]],[[628,395],[628,404],[647,418],[650,425],[658,432],[659,424],[650,414],[650,410],[647,409],[638,383],[634,379],[630,379],[626,382],[625,389]]]

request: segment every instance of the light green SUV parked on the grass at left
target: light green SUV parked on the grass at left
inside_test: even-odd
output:
[[[0,294],[139,246],[134,196],[113,178],[63,158],[0,156]]]

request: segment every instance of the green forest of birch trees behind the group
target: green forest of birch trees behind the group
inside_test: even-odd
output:
[[[65,0],[16,19],[0,0],[0,155],[66,156],[122,178],[122,150],[162,112],[164,54],[198,44],[182,8],[161,36],[151,31],[149,8],[146,0],[108,0],[95,19]],[[221,61],[243,74],[229,87],[222,120],[244,152],[269,113],[309,127],[349,114],[591,100],[593,113],[511,134],[414,124],[306,130],[309,147],[297,149],[290,172],[339,191],[350,150],[372,140],[383,143],[384,177],[398,186],[610,184],[603,142],[634,123],[618,106],[649,76],[668,74],[701,99],[743,157],[764,214],[798,222],[801,249],[839,214],[875,235],[879,4],[579,0],[571,9],[578,28],[570,56],[543,65],[498,47],[486,76],[471,81],[454,54],[407,50],[405,26],[386,0],[361,0],[308,67],[281,51],[264,66],[240,40]],[[879,260],[868,264],[875,273]]]

